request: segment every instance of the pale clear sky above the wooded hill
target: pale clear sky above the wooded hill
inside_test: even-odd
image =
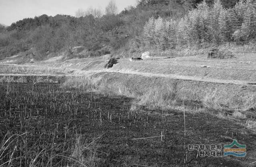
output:
[[[66,14],[75,16],[78,9],[101,8],[105,10],[110,0],[0,0],[0,24],[10,26],[24,18],[34,18],[42,14],[55,16]],[[135,6],[137,0],[115,0],[118,11]]]

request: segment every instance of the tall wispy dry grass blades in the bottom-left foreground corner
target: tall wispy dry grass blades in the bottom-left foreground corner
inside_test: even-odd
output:
[[[0,166],[13,166],[12,162],[16,159],[26,159],[28,167],[34,167],[34,166],[53,166],[52,160],[56,157],[61,157],[67,160],[66,165],[64,166],[70,166],[70,167],[95,167],[96,162],[98,161],[97,158],[97,139],[94,138],[92,141],[88,142],[87,139],[84,139],[82,135],[76,135],[75,139],[69,140],[68,143],[62,143],[63,147],[64,145],[69,144],[68,150],[64,151],[62,154],[54,154],[54,149],[61,147],[61,145],[55,145],[52,143],[52,148],[43,148],[41,150],[38,150],[37,152],[34,152],[36,150],[33,150],[34,153],[32,153],[32,150],[28,150],[28,138],[26,135],[28,135],[30,132],[26,132],[24,134],[13,134],[10,136],[10,134],[6,134],[4,139],[1,141],[0,145],[0,161],[2,164]],[[8,137],[10,136],[10,137]],[[30,145],[30,147],[37,147],[37,143],[34,143],[34,145]],[[9,151],[9,149],[13,149],[12,154],[8,155],[6,152]],[[19,149],[19,150],[17,150]],[[8,151],[7,151],[8,150]],[[17,151],[26,151],[26,154],[23,156],[17,157]],[[67,152],[70,152],[70,156],[66,156],[65,154]],[[49,154],[50,153],[50,154]],[[3,162],[3,159],[6,159],[8,157],[8,161]],[[16,164],[17,165],[17,164]],[[22,164],[20,164],[22,165]]]

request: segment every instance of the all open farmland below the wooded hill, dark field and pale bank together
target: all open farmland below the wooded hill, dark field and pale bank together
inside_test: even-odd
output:
[[[0,166],[255,166],[256,59],[235,56],[3,61]]]

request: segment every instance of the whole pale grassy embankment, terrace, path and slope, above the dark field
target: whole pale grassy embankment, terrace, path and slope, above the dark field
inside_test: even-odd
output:
[[[6,66],[1,73],[68,74],[64,87],[128,96],[135,99],[132,108],[147,105],[193,112],[210,108],[220,116],[226,115],[227,108],[237,110],[236,115],[255,110],[255,86],[248,84],[256,82],[253,48],[228,44],[220,47],[225,48],[232,48],[235,58],[207,59],[203,54],[207,49],[199,49],[197,56],[136,62],[119,59],[111,69],[104,69],[108,57],[97,57]]]

